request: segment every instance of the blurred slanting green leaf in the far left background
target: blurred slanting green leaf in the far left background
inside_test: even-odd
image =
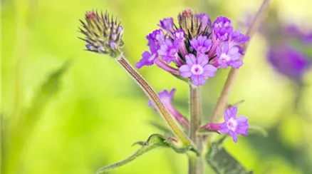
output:
[[[19,116],[17,121],[11,121],[6,128],[6,150],[9,152],[4,157],[7,162],[8,171],[19,173],[18,170],[23,168],[21,163],[22,154],[27,145],[27,138],[36,127],[41,112],[51,101],[51,98],[59,91],[63,73],[68,69],[69,62],[66,62],[60,68],[53,71],[46,81],[34,93],[30,106]]]

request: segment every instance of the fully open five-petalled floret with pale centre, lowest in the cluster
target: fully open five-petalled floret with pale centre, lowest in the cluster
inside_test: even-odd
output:
[[[186,65],[179,68],[181,76],[184,78],[191,77],[192,82],[196,86],[202,86],[206,83],[205,78],[213,77],[217,68],[208,64],[208,56],[206,54],[198,54],[197,58],[190,53],[185,56]]]

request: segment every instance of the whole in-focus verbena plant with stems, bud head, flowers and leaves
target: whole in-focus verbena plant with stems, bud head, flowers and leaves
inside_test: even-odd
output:
[[[147,35],[147,45],[150,49],[142,53],[142,59],[135,67],[155,64],[185,81],[189,86],[189,121],[172,105],[175,88],[157,95],[126,60],[121,48],[124,44],[123,27],[117,19],[108,12],[87,12],[85,21],[81,21],[80,29],[85,35],[80,39],[87,42],[87,51],[107,54],[114,58],[150,98],[149,106],[160,113],[172,133],[171,136],[150,135],[145,142],[137,142],[142,147],[129,158],[100,168],[96,173],[118,168],[157,147],[168,147],[177,153],[185,153],[189,158],[189,174],[204,173],[204,159],[216,173],[251,173],[222,148],[222,142],[229,135],[236,143],[238,135],[247,135],[249,131],[248,119],[245,116],[237,116],[237,106],[228,106],[227,99],[239,68],[243,65],[249,40],[268,6],[269,0],[264,0],[246,34],[234,30],[231,20],[227,17],[219,16],[212,22],[208,14],[185,9],[178,15],[177,24],[173,18],[163,19],[158,25],[160,29]],[[219,68],[229,67],[232,69],[211,120],[202,124],[200,86],[204,86],[209,78],[214,77]],[[218,123],[223,111],[224,121]],[[211,133],[223,135],[208,143]]]

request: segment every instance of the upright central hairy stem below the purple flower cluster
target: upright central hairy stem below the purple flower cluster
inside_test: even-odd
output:
[[[189,85],[189,116],[190,116],[190,129],[189,137],[195,143],[199,153],[202,153],[201,137],[197,136],[197,131],[200,128],[200,121],[202,116],[202,108],[200,101],[200,90],[198,86]],[[202,165],[202,157],[196,155],[189,156],[189,174],[202,174],[204,173]]]

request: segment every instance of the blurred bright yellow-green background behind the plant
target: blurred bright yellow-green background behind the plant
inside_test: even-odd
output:
[[[1,169],[4,173],[94,173],[132,154],[137,140],[160,133],[149,121],[160,116],[112,58],[83,51],[77,39],[85,11],[106,10],[121,19],[125,55],[134,64],[147,49],[145,36],[160,19],[185,8],[225,15],[236,29],[254,14],[252,0],[1,0]],[[311,1],[273,1],[282,20],[312,27]],[[309,5],[310,4],[310,5]],[[175,19],[176,20],[176,19]],[[239,113],[269,136],[231,139],[225,147],[255,173],[312,173],[312,72],[305,76],[301,111],[296,88],[266,61],[267,42],[257,34],[230,102],[244,100]],[[312,56],[312,55],[311,55]],[[67,71],[58,71],[71,60]],[[204,120],[209,118],[229,69],[202,88]],[[175,104],[187,116],[187,85],[156,66],[142,68],[156,91],[177,88]],[[6,169],[6,170],[4,170]],[[187,157],[157,149],[112,173],[187,173]],[[213,173],[209,168],[207,173]]]

